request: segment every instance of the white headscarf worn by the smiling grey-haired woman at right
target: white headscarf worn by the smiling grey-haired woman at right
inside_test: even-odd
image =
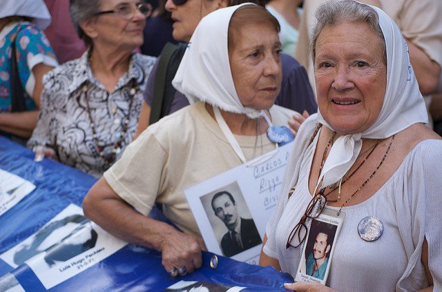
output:
[[[363,133],[340,136],[330,149],[323,167],[323,186],[328,186],[347,173],[362,147],[361,138],[385,139],[408,126],[428,121],[425,102],[410,64],[408,49],[401,30],[383,10],[376,10],[387,50],[387,90],[381,113],[374,124]],[[320,111],[318,121],[332,129]],[[318,183],[320,182],[320,179]]]

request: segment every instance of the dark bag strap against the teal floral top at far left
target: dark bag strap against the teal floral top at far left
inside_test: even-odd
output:
[[[25,92],[21,85],[17,57],[15,52],[15,41],[19,35],[19,30],[12,40],[11,52],[11,112],[23,112],[26,110]]]

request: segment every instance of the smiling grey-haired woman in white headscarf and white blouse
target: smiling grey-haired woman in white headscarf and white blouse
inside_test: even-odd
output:
[[[319,112],[296,137],[260,264],[296,291],[441,291],[442,142],[401,32],[351,0],[316,18]]]

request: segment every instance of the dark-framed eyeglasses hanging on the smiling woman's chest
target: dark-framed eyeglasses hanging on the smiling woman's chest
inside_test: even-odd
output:
[[[307,237],[307,225],[305,224],[305,221],[307,218],[315,219],[318,217],[320,213],[323,212],[326,204],[327,197],[325,197],[323,189],[311,198],[311,201],[309,202],[307,209],[305,209],[305,213],[302,215],[301,220],[299,220],[298,224],[291,229],[289,238],[287,239],[287,244],[285,245],[286,249],[288,249],[290,246],[296,248],[305,241],[305,237]],[[293,245],[291,242],[294,240],[295,235],[298,235],[296,238],[297,242],[295,245]]]

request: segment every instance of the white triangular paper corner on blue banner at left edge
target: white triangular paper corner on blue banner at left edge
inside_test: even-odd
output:
[[[34,189],[32,182],[0,168],[0,216]]]

